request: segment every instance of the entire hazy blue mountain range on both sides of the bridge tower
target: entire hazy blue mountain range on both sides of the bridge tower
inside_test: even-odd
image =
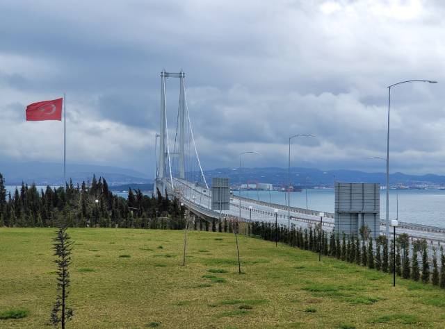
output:
[[[212,177],[229,177],[232,185],[241,183],[271,183],[275,186],[287,185],[287,168],[265,167],[265,168],[242,168],[241,176],[238,169],[219,168],[204,171],[211,183]],[[0,162],[0,173],[6,179],[6,185],[19,185],[23,182],[35,183],[37,185],[59,185],[63,181],[63,165],[59,163],[44,162]],[[153,183],[148,174],[121,167],[98,166],[98,165],[76,165],[67,164],[67,179],[72,178],[74,183],[83,180],[91,180],[92,175],[97,178],[106,178],[108,185],[129,185]],[[291,168],[291,184],[300,187],[326,186],[332,187],[334,181],[356,182],[356,183],[380,183],[385,185],[385,173],[366,173],[357,170],[328,170],[312,168]],[[391,186],[403,187],[445,187],[445,176],[434,174],[408,175],[395,173],[390,175]],[[142,188],[147,188],[144,186]]]

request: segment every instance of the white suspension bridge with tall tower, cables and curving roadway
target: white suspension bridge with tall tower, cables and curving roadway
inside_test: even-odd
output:
[[[177,120],[175,129],[172,130],[168,128],[165,90],[168,78],[179,79],[179,102],[177,112],[175,112]],[[160,133],[155,137],[155,191],[159,189],[162,194],[174,195],[194,216],[207,221],[238,218],[240,221],[273,223],[277,221],[279,225],[287,226],[290,219],[291,224],[296,228],[307,228],[320,223],[319,213],[323,210],[307,210],[236,195],[231,195],[229,210],[212,210],[211,189],[202,170],[188,112],[184,71],[171,73],[163,70],[161,72],[160,114]],[[322,228],[330,232],[334,228],[334,214],[327,212],[324,214]],[[380,219],[380,233],[385,234],[385,222],[382,219]],[[425,238],[431,246],[445,244],[445,228],[399,221],[398,233],[407,233],[412,239]]]

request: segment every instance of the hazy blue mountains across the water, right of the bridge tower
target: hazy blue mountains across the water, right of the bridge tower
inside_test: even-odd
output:
[[[205,171],[205,176],[209,182],[211,177],[229,177],[232,185],[241,183],[271,183],[277,186],[287,185],[288,169],[278,167],[266,168],[242,168],[241,175],[238,169],[220,168]],[[334,181],[345,183],[380,183],[385,185],[386,173],[366,173],[357,170],[328,170],[312,168],[291,168],[291,184],[300,187],[326,186],[332,187]],[[400,187],[422,187],[428,186],[445,186],[445,176],[434,174],[426,175],[408,175],[395,173],[389,175],[389,184],[391,186],[398,185]]]

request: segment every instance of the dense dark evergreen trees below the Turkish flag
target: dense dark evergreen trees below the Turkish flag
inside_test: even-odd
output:
[[[129,189],[127,199],[113,194],[105,178],[91,183],[37,189],[22,183],[7,192],[0,174],[0,226],[120,228],[184,228],[184,210],[177,199],[156,191],[156,197]]]

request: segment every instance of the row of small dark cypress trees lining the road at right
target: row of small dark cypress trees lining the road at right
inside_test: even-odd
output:
[[[366,227],[362,228],[360,236],[347,237],[344,234],[336,235],[334,232],[326,233],[324,230],[320,233],[319,224],[316,224],[314,228],[305,229],[292,226],[291,230],[288,230],[286,226],[275,227],[275,223],[259,221],[252,222],[251,226],[254,237],[282,242],[316,253],[320,252],[321,248],[321,253],[325,256],[386,273],[393,273],[395,268],[396,274],[401,278],[421,280],[424,283],[431,282],[432,285],[445,288],[445,266],[439,267],[437,250],[434,249],[432,268],[430,267],[428,244],[425,239],[410,242],[407,234],[399,235],[395,242],[394,262],[394,239],[391,239],[388,244],[387,237],[381,235],[374,242]],[[421,254],[420,261],[419,254]],[[440,264],[445,264],[445,253],[442,247],[440,248]]]

